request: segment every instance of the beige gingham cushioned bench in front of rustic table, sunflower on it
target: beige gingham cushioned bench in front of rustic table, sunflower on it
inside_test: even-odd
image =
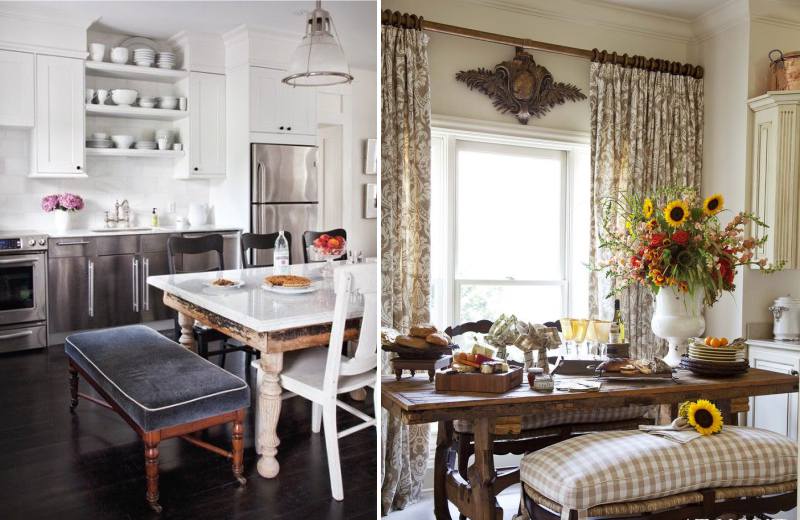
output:
[[[534,520],[775,513],[797,502],[797,446],[777,433],[735,426],[685,444],[637,431],[601,432],[526,455],[520,479]]]

